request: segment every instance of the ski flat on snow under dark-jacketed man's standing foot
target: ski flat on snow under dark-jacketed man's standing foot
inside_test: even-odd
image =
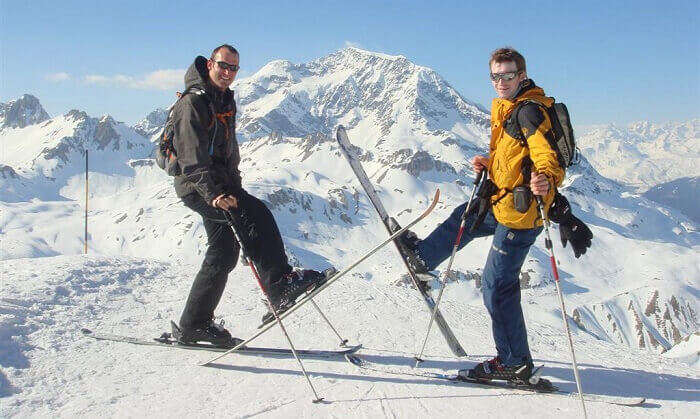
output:
[[[159,338],[154,338],[152,340],[148,339],[141,339],[141,338],[135,338],[131,336],[123,336],[123,335],[114,335],[110,333],[99,333],[99,332],[93,332],[90,329],[81,329],[81,332],[83,332],[84,336],[97,339],[97,340],[108,340],[112,342],[123,342],[123,343],[131,343],[133,345],[145,345],[145,346],[158,346],[162,348],[174,348],[174,349],[188,349],[188,350],[195,350],[195,351],[210,351],[210,352],[226,352],[231,347],[222,347],[222,346],[214,346],[214,345],[207,345],[203,343],[188,343],[188,344],[182,344],[178,343],[175,339],[172,338],[172,335],[170,333],[163,333]],[[297,354],[299,356],[303,356],[305,358],[334,358],[334,357],[342,357],[343,355],[350,355],[358,350],[362,345],[356,345],[356,346],[351,346],[347,349],[343,350],[329,350],[329,351],[323,351],[323,350],[313,350],[313,349],[301,349],[297,350]],[[241,355],[255,355],[255,356],[292,356],[292,351],[290,349],[282,349],[282,348],[263,348],[263,347],[245,347],[241,348],[238,350],[238,353]]]

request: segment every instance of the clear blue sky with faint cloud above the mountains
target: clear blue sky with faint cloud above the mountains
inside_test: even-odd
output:
[[[577,125],[700,116],[699,2],[563,3],[0,0],[0,101],[30,93],[52,116],[133,123],[170,104],[172,70],[228,42],[240,76],[355,45],[431,67],[489,107],[488,55],[511,45]]]

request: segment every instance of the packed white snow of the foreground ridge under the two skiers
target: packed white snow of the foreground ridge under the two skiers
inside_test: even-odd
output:
[[[573,417],[577,399],[445,384],[421,377],[366,374],[342,359],[304,360],[317,391],[315,405],[293,358],[211,357],[82,337],[80,327],[157,336],[177,319],[197,270],[139,258],[55,256],[3,262],[0,293],[1,417]],[[528,291],[525,291],[526,293]],[[350,296],[350,297],[349,297]],[[237,268],[220,304],[231,330],[246,336],[263,307],[255,282]],[[424,368],[453,371],[492,352],[483,307],[445,294],[443,310],[470,360],[457,360],[438,333],[428,342]],[[363,356],[411,365],[429,316],[415,290],[349,275],[317,299]],[[527,317],[527,314],[526,314]],[[545,376],[574,390],[563,332],[527,319],[536,362]],[[337,338],[310,308],[286,321],[298,348],[334,348]],[[313,333],[309,333],[313,331]],[[587,403],[590,417],[693,417],[700,414],[696,370],[575,331],[584,391],[644,396],[642,407]],[[256,344],[285,347],[273,329]],[[663,371],[663,372],[661,372]],[[503,406],[508,406],[504,408]],[[693,414],[692,412],[696,412]]]

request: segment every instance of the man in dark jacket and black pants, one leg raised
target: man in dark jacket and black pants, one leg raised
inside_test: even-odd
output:
[[[208,60],[195,58],[185,74],[185,92],[170,117],[181,171],[175,176],[175,192],[187,207],[202,216],[209,244],[180,326],[173,330],[173,335],[184,343],[235,343],[231,334],[213,321],[214,309],[240,250],[224,211],[232,216],[275,310],[290,307],[299,295],[326,279],[320,272],[292,270],[272,213],[242,187],[236,103],[229,89],[238,64],[238,51],[230,45],[217,47]],[[271,318],[271,313],[267,313],[263,321]]]

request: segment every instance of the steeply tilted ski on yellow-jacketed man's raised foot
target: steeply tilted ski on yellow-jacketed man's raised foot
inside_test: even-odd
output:
[[[391,225],[389,224],[389,214],[384,208],[382,201],[379,199],[377,192],[374,190],[374,187],[372,186],[372,183],[370,182],[369,176],[367,176],[365,169],[362,168],[362,164],[355,156],[355,153],[353,153],[352,149],[356,147],[353,146],[352,143],[350,143],[350,140],[348,139],[348,134],[345,131],[345,127],[343,127],[342,125],[338,127],[338,130],[336,132],[336,138],[338,141],[338,145],[340,146],[340,150],[342,151],[343,155],[350,164],[352,171],[355,172],[358,181],[362,185],[362,188],[365,190],[365,193],[369,197],[370,202],[372,202],[374,209],[377,211],[379,217],[382,219],[384,227],[386,227],[386,230],[389,232],[389,235],[395,237],[396,234],[394,231],[392,231]],[[423,297],[423,301],[425,301],[428,311],[432,314],[433,310],[435,309],[435,300],[433,299],[433,296],[430,295],[427,282],[421,281],[416,276],[415,272],[413,272],[413,270],[409,267],[408,260],[401,251],[398,239],[394,239],[394,244],[396,245],[396,249],[401,255],[401,260],[403,260],[403,263],[406,265],[406,269],[408,270],[408,274],[411,277],[413,285],[421,293],[421,296]],[[455,356],[459,357],[466,356],[467,353],[464,351],[464,348],[462,348],[462,345],[460,345],[459,341],[457,340],[457,337],[455,337],[454,333],[452,332],[452,329],[447,324],[447,321],[445,321],[445,318],[442,316],[440,310],[437,310],[437,312],[435,313],[435,323],[437,323],[438,328],[440,329],[440,332],[442,332],[442,336],[447,341],[447,345],[450,347],[450,350],[452,350],[452,353]]]

